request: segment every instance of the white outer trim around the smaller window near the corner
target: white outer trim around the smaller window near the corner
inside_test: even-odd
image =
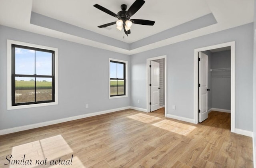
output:
[[[118,61],[118,62],[123,62],[125,63],[125,95],[122,96],[110,96],[110,61]],[[109,99],[117,99],[117,98],[123,98],[123,97],[128,97],[128,61],[120,60],[120,59],[114,59],[114,58],[109,58],[108,60],[108,96]]]

